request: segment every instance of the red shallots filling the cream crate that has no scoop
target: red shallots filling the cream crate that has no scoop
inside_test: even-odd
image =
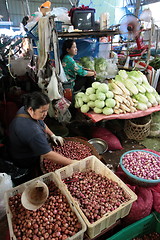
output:
[[[118,183],[93,170],[75,172],[63,181],[90,223],[130,200]]]

